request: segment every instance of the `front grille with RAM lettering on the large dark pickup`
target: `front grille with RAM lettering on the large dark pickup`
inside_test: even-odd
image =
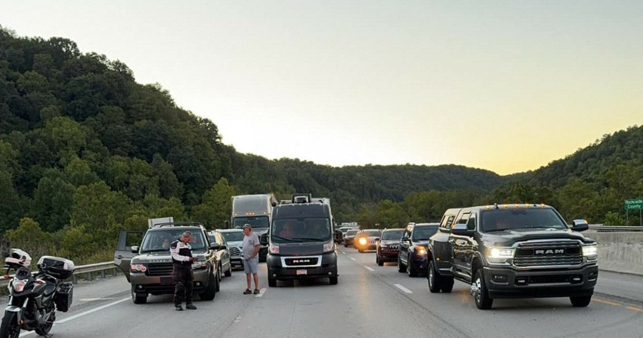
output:
[[[583,263],[576,241],[524,242],[518,244],[515,266],[566,266]]]

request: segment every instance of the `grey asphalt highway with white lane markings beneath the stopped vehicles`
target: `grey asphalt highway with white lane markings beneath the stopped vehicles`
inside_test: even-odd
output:
[[[431,294],[424,276],[410,278],[374,253],[340,247],[340,282],[280,282],[244,295],[245,276],[224,278],[214,301],[176,312],[171,296],[135,305],[125,278],[79,285],[60,314],[55,337],[643,337],[643,277],[601,272],[589,307],[567,298],[496,300],[478,310],[468,285]],[[260,283],[267,283],[260,264]],[[35,337],[23,333],[21,337]]]

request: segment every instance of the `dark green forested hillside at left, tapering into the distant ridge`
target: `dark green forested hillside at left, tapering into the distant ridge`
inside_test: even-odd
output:
[[[12,245],[95,260],[148,217],[221,226],[232,194],[312,192],[331,198],[338,221],[352,221],[411,192],[480,195],[502,182],[457,165],[336,168],[240,154],[213,121],[160,85],[136,83],[124,63],[66,38],[0,29],[0,233]]]

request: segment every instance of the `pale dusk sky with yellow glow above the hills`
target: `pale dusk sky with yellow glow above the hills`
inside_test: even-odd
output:
[[[643,1],[1,1],[242,153],[511,174],[643,123]]]

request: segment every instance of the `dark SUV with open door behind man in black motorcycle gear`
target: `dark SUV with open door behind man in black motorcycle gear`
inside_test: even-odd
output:
[[[170,244],[185,231],[192,232],[190,246],[197,258],[192,264],[193,291],[201,300],[215,298],[221,279],[216,255],[219,244],[211,243],[204,226],[197,222],[160,223],[147,230],[142,241],[142,232],[121,232],[114,252],[114,264],[131,283],[134,304],[147,303],[149,294],[174,293]]]

